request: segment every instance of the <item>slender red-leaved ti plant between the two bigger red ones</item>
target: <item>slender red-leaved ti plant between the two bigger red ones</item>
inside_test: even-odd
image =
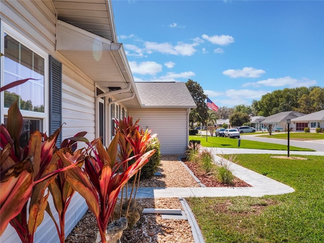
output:
[[[83,166],[83,162],[85,159],[85,149],[78,149],[75,151],[77,142],[83,141],[86,143],[90,143],[88,139],[86,139],[84,136],[87,134],[87,132],[81,132],[75,134],[73,137],[65,139],[61,143],[61,148],[59,152],[63,153],[66,158],[71,161],[74,164],[77,164],[78,167]],[[64,168],[62,160],[58,157],[59,155],[55,153],[53,155],[54,159],[57,161],[58,168]],[[59,225],[56,222],[51,208],[49,204],[46,207],[46,212],[51,216],[55,227],[57,229],[59,239],[61,243],[64,243],[65,241],[65,214],[67,211],[67,208],[70,204],[70,201],[72,199],[72,196],[74,195],[75,190],[71,187],[71,185],[68,183],[68,181],[65,179],[64,172],[61,172],[57,175],[54,180],[52,180],[51,184],[49,185],[49,190],[53,196],[53,203],[55,206],[55,209],[59,216]]]

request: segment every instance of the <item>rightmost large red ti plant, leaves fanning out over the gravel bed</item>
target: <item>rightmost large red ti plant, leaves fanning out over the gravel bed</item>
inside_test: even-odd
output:
[[[117,160],[119,132],[111,141],[106,150],[101,141],[97,140],[94,156],[88,155],[85,159],[85,170],[74,167],[65,173],[66,179],[87,202],[89,210],[94,213],[101,241],[106,242],[106,228],[113,213],[120,189],[127,181],[143,167],[149,157],[155,152],[151,150],[136,159],[124,172],[117,173],[121,163]],[[59,155],[67,165],[71,163],[64,154]]]

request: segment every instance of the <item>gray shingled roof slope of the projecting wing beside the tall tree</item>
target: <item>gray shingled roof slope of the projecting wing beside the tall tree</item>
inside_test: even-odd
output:
[[[196,108],[185,83],[136,82],[142,108]]]

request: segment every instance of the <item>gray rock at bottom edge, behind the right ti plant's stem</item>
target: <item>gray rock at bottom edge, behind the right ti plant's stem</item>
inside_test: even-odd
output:
[[[114,220],[107,226],[106,230],[106,241],[107,243],[119,243],[120,238],[123,235],[124,229],[127,228],[128,222],[126,218],[120,218]],[[101,236],[99,231],[95,235],[94,243],[101,243]]]

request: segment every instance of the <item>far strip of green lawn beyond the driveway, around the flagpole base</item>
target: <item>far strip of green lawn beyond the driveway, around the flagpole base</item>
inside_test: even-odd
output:
[[[219,147],[219,148],[238,148],[238,139],[223,138],[223,137],[200,137],[200,135],[189,136],[190,140],[200,140],[204,147]],[[287,150],[287,145],[280,145],[274,143],[256,142],[250,140],[240,140],[239,148],[254,148],[254,149],[270,149],[270,150]],[[308,148],[298,148],[294,146],[289,147],[292,151],[314,151]]]

